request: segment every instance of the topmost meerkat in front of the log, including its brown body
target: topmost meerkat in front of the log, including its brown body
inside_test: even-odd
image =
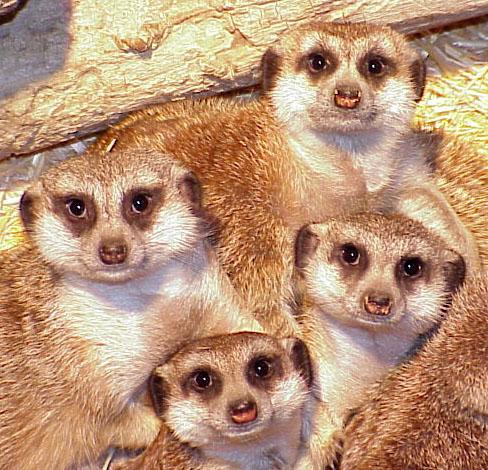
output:
[[[305,223],[400,201],[420,219],[434,213],[433,228],[446,237],[455,232],[459,251],[476,252],[441,197],[432,201],[417,190],[392,196],[409,176],[420,185],[432,173],[410,127],[423,70],[419,55],[390,28],[310,25],[265,55],[261,99],[150,107],[88,152],[112,144],[156,148],[190,168],[220,224],[218,257],[233,285],[266,331],[297,334],[286,308],[294,237]]]

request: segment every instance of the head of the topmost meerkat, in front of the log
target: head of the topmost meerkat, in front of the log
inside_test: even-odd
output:
[[[292,31],[262,68],[264,92],[288,129],[337,141],[403,131],[425,80],[423,60],[401,34],[366,23]]]

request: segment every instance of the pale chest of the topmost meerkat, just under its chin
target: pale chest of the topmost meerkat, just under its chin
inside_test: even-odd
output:
[[[380,199],[398,183],[402,172],[395,140],[385,140],[381,132],[369,136],[369,144],[364,136],[336,137],[304,132],[287,138],[308,221],[367,210],[367,200]]]

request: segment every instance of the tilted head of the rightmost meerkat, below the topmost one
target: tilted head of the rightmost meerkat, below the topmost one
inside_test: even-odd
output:
[[[358,214],[303,227],[296,267],[307,297],[351,324],[426,332],[464,280],[464,261],[420,223]]]

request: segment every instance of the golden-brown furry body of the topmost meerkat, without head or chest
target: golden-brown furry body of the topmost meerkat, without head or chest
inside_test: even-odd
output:
[[[191,169],[202,183],[204,208],[219,224],[217,252],[232,283],[267,331],[294,332],[278,312],[293,265],[293,233],[280,208],[303,204],[294,188],[300,170],[265,103],[184,101],[141,111],[129,124],[108,131],[88,152],[101,154],[117,139],[115,148],[158,148]]]

